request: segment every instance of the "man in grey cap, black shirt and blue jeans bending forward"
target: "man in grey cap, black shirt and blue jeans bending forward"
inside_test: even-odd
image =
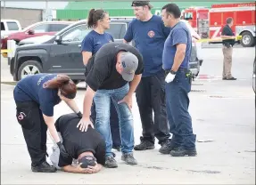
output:
[[[87,131],[88,125],[93,126],[90,109],[94,100],[97,115],[95,128],[106,141],[106,167],[118,167],[111,152],[111,100],[117,109],[120,122],[121,159],[128,165],[137,164],[133,156],[134,128],[131,108],[132,95],[140,82],[143,70],[141,54],[129,44],[104,44],[87,63],[84,114],[78,126],[82,132]]]

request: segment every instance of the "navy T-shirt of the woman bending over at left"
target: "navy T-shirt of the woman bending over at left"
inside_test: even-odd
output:
[[[54,116],[54,106],[61,102],[58,89],[44,88],[43,84],[57,75],[38,74],[27,76],[15,86],[13,96],[15,101],[35,101],[39,109],[47,117]]]

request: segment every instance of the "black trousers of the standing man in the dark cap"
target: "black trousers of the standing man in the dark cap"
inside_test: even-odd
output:
[[[163,70],[153,76],[141,78],[136,89],[136,102],[143,128],[141,140],[154,143],[154,137],[156,137],[160,144],[167,141],[170,134],[166,113]]]

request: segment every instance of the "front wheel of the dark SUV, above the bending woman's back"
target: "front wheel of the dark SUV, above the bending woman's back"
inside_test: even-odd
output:
[[[30,75],[37,75],[43,71],[41,64],[37,60],[28,60],[21,64],[18,70],[18,80]]]

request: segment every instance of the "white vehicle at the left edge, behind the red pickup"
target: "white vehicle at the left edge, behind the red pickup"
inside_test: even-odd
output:
[[[21,29],[21,24],[18,20],[1,20],[1,38],[21,31]]]

